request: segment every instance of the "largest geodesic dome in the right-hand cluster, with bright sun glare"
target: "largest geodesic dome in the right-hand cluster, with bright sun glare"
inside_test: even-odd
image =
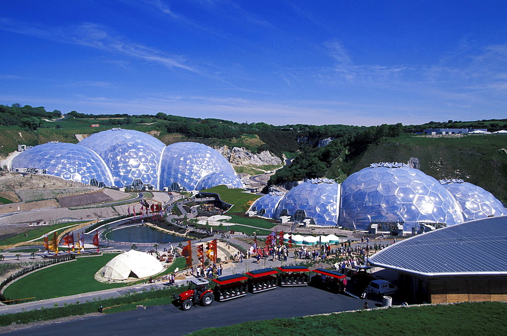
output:
[[[401,163],[372,164],[342,183],[340,225],[367,230],[371,223],[403,224],[463,222],[459,205],[439,181]]]

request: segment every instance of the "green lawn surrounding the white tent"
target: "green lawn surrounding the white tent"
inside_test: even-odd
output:
[[[25,297],[45,300],[127,286],[128,283],[102,283],[94,279],[95,273],[117,255],[117,253],[107,253],[101,256],[78,257],[73,262],[32,272],[13,282],[5,289],[4,295],[12,300]],[[172,272],[176,267],[179,269],[185,267],[184,257],[176,258],[174,263],[161,274]]]

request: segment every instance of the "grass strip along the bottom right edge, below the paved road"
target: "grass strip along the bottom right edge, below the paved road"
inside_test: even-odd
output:
[[[372,311],[276,318],[222,328],[207,328],[192,335],[484,335],[505,334],[507,304],[461,303],[445,306],[390,308]]]

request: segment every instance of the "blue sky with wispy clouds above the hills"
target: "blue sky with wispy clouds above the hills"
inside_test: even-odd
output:
[[[379,125],[507,118],[505,1],[18,0],[0,103]]]

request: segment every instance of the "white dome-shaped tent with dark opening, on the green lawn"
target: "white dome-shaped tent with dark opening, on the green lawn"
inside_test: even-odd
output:
[[[147,278],[154,276],[164,267],[156,257],[148,253],[130,250],[110,260],[103,268],[102,275],[113,280]]]

